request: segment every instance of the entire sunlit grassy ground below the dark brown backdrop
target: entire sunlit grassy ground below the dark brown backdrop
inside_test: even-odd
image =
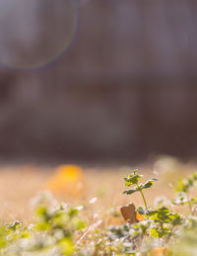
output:
[[[161,158],[152,165],[140,167],[139,172],[143,174],[143,177],[137,178],[142,182],[139,185],[138,181],[136,183],[132,180],[132,177],[135,178],[137,175],[135,172],[133,173],[134,169],[134,167],[128,166],[110,168],[83,168],[76,165],[2,166],[0,168],[0,255],[197,255],[195,246],[192,247],[191,252],[185,252],[191,247],[190,240],[185,245],[181,243],[184,245],[184,248],[181,249],[182,254],[174,249],[174,246],[177,247],[176,243],[182,239],[181,230],[186,228],[184,229],[185,233],[188,230],[189,232],[193,229],[196,230],[195,175],[191,176],[193,180],[185,178],[179,184],[181,189],[176,189],[176,192],[181,192],[181,197],[184,194],[181,204],[171,204],[171,200],[175,197],[174,191],[179,177],[192,175],[196,171],[196,165],[182,164],[173,158]],[[135,187],[137,193],[123,195],[126,184],[123,178],[128,177],[130,173],[133,174],[131,178],[127,178],[129,187],[146,184],[150,178],[158,179],[153,187],[151,181],[151,184],[144,185],[145,190],[143,190],[148,208],[154,209],[155,212],[146,212],[143,207],[143,197],[138,190],[140,187]],[[51,194],[48,194],[48,191]],[[131,191],[127,194],[131,194]],[[190,197],[189,201],[185,201],[185,195]],[[159,207],[157,202],[160,197],[164,198],[163,201],[167,207]],[[40,201],[42,206],[43,199],[48,201],[48,198],[49,206],[40,207],[36,212],[36,206],[40,204]],[[177,201],[179,200],[180,197]],[[80,217],[85,220],[85,225],[84,220],[81,221],[77,215],[75,216],[78,213],[74,213],[73,216],[73,213],[64,210],[65,203],[69,204],[71,212],[75,212],[75,208],[78,209],[79,206],[83,209],[83,211],[79,210],[79,213]],[[134,225],[129,224],[128,227],[127,221],[120,213],[120,208],[130,203],[133,203],[136,208],[143,207],[144,210],[140,211],[144,211],[144,213],[141,215],[142,218],[138,218],[140,222],[134,223]],[[59,205],[62,209],[61,212],[55,210]],[[52,213],[50,213],[51,211]],[[61,216],[61,221],[57,219],[57,215]],[[58,228],[55,227],[56,221],[60,221]],[[70,226],[72,221],[74,221],[74,226]],[[7,223],[11,224],[7,225]],[[76,223],[78,223],[77,226]],[[35,225],[35,229],[30,231],[32,225]],[[68,226],[70,226],[69,229]],[[142,231],[144,230],[143,226],[146,227],[145,233]],[[56,237],[57,230],[64,233],[63,238]],[[178,232],[180,238],[176,239]],[[141,237],[140,242],[134,242],[136,236],[134,234]],[[12,237],[12,239],[7,241],[5,237]],[[51,239],[56,240],[48,246],[48,244],[45,245],[46,238],[50,241],[49,243],[51,243]],[[126,242],[123,242],[122,239]],[[187,239],[190,238],[186,237],[184,241]],[[192,239],[196,244],[197,238],[193,234]],[[26,246],[21,245],[25,240],[29,244],[28,248],[32,246],[33,242],[36,246],[33,245],[31,249],[27,249]],[[15,250],[13,251],[13,246],[17,248],[17,253]]]

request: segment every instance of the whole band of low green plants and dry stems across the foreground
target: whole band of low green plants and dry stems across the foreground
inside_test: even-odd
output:
[[[144,216],[143,220],[106,226],[99,213],[95,218],[86,218],[85,212],[82,217],[83,207],[59,204],[52,195],[44,192],[33,201],[33,224],[24,225],[15,220],[0,225],[0,255],[196,256],[197,201],[191,192],[195,192],[197,175],[178,181],[178,196],[173,201],[175,205],[190,203],[191,214],[175,212],[172,204],[164,205],[164,197],[151,209],[144,190],[151,188],[156,179],[140,183],[142,177],[135,170],[125,178],[127,190],[124,194],[141,194],[144,206],[139,206],[136,211]],[[114,211],[108,214],[112,217]]]

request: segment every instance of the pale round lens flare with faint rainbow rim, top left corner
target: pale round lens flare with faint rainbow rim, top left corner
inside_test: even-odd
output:
[[[78,7],[68,0],[1,0],[0,64],[35,69],[53,62],[71,45]]]

